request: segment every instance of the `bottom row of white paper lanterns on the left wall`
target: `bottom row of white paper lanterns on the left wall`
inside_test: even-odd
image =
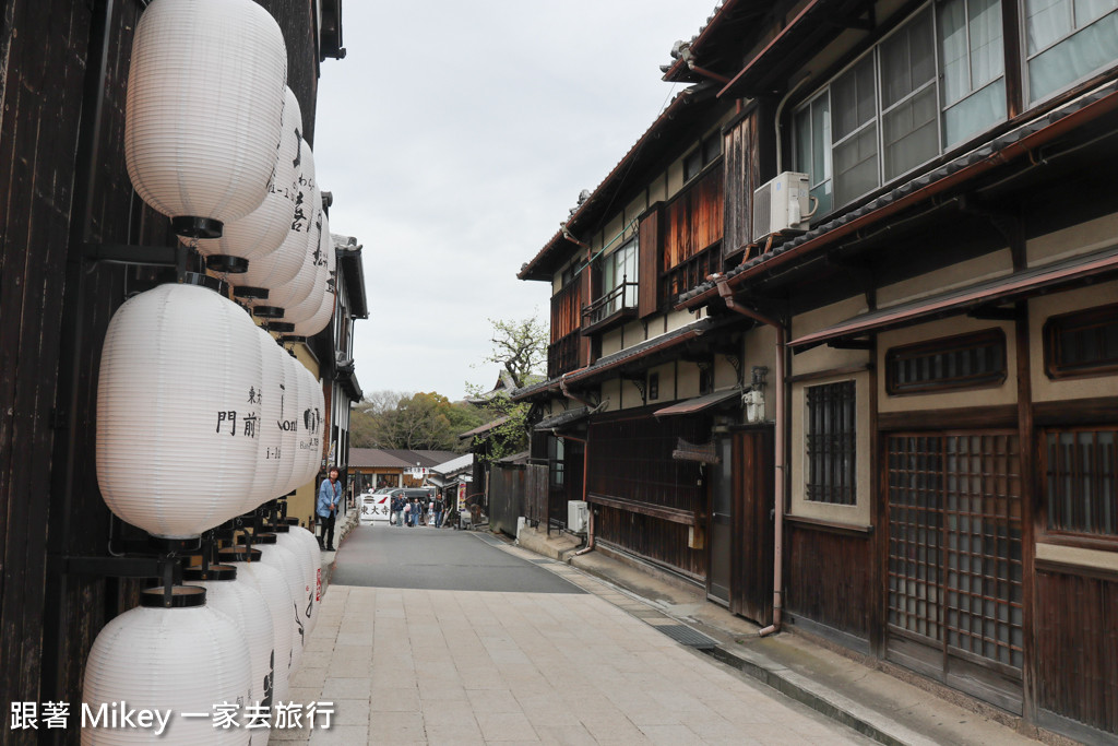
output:
[[[197,585],[206,603],[184,608],[133,608],[97,635],[86,663],[83,703],[126,701],[130,707],[170,711],[160,744],[253,744],[268,740],[267,728],[214,728],[215,703],[271,708],[290,698],[291,676],[318,622],[319,545],[306,529],[258,537],[258,550],[239,548],[229,567],[212,567]],[[235,548],[236,549],[236,548]],[[188,580],[200,574],[188,570]],[[135,729],[83,728],[82,743],[136,743]]]

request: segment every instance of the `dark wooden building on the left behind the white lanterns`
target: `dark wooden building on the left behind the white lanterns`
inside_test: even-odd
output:
[[[94,638],[135,604],[135,582],[76,559],[104,557],[112,536],[94,468],[102,342],[127,295],[174,277],[168,220],[124,164],[146,4],[10,0],[0,15],[0,701],[66,701],[72,717]],[[313,143],[320,63],[344,54],[341,2],[260,4],[283,29]],[[76,744],[78,733],[72,720],[3,740]]]

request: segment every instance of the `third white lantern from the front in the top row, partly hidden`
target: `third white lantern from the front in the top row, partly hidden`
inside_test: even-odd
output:
[[[287,235],[274,252],[249,263],[246,272],[229,275],[229,284],[235,292],[254,299],[254,304],[267,305],[269,299],[260,298],[262,291],[288,283],[299,274],[303,267],[307,236],[313,233],[322,210],[322,196],[314,180],[314,154],[305,140],[300,142],[299,152],[299,193]]]

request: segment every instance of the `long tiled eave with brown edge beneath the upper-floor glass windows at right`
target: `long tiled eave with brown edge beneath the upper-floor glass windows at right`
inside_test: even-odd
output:
[[[1100,116],[1118,111],[1118,81],[1110,81],[1092,91],[1030,120],[985,145],[910,179],[866,205],[828,220],[803,236],[743,262],[726,274],[731,290],[738,290],[751,278],[825,251],[835,242],[874,225],[902,209],[922,204],[960,183],[976,179],[1018,158],[1029,157],[1038,148]],[[676,299],[678,310],[694,310],[718,298],[712,281],[697,285]]]

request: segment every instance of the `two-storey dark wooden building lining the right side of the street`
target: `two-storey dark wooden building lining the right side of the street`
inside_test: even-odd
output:
[[[643,141],[618,167],[624,185],[607,177],[520,274],[552,282],[553,325],[551,378],[518,396],[544,416],[610,400],[576,433],[599,540],[694,577],[769,631],[824,636],[1112,743],[1118,7],[727,0],[675,51],[665,79],[718,103],[657,120],[650,132],[693,121],[690,139]],[[698,164],[708,138],[720,142],[720,242],[680,277],[672,216],[701,224],[703,211],[670,209],[690,183],[671,188],[672,148],[691,143]],[[669,189],[654,192],[663,163]],[[779,185],[799,183],[806,206],[781,223]],[[618,349],[595,325],[594,262],[633,219],[638,296]],[[662,296],[667,318],[699,320],[646,314]],[[681,342],[683,329],[700,333]],[[746,410],[669,433],[647,406],[651,375],[663,393],[663,371],[679,381],[697,346],[716,356],[714,391],[719,356],[738,358]],[[650,350],[664,357],[633,362]],[[767,369],[770,427],[746,425],[755,369]],[[665,489],[653,463],[628,482],[596,473],[607,443],[622,464],[651,453],[626,445],[635,437],[727,457],[698,490],[679,478]],[[692,554],[670,526],[688,510],[707,530]],[[777,540],[767,567],[762,523]],[[775,608],[749,611],[766,575]]]

